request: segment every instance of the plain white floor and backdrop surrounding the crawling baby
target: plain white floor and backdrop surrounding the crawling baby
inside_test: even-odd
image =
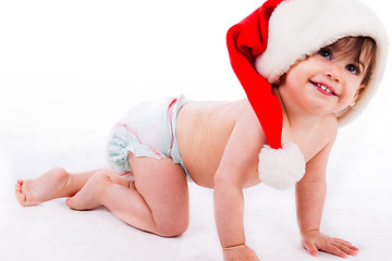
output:
[[[392,24],[380,0],[367,2]],[[221,260],[212,191],[194,184],[189,228],[171,239],[134,229],[105,208],[72,211],[64,199],[22,208],[14,199],[17,178],[57,165],[105,166],[110,127],[140,100],[243,97],[224,36],[259,3],[194,4],[0,2],[0,260]],[[369,109],[341,129],[329,162],[322,231],[356,245],[352,260],[392,260],[391,61]],[[314,260],[299,244],[293,189],[259,185],[245,196],[248,245],[261,260]]]

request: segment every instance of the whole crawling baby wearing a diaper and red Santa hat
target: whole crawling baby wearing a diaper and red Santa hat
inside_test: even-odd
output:
[[[376,91],[387,46],[380,21],[357,0],[268,0],[228,33],[247,99],[136,105],[110,134],[110,169],[53,169],[17,181],[16,199],[33,206],[68,197],[75,210],[105,206],[138,229],[173,237],[188,226],[191,179],[213,189],[224,260],[259,260],[245,240],[243,189],[295,186],[309,253],[355,256],[352,244],[319,231],[326,169],[338,126]]]

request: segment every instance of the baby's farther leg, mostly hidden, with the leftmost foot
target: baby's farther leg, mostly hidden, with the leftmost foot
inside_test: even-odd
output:
[[[17,181],[15,196],[26,207],[38,204],[51,199],[72,197],[87,183],[97,171],[70,174],[56,167],[44,175],[28,181]]]

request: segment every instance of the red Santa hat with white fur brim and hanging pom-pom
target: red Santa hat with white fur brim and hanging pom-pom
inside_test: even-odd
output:
[[[269,146],[259,154],[262,183],[278,189],[293,186],[305,174],[298,146],[281,144],[283,114],[271,84],[298,60],[347,36],[376,41],[376,66],[354,108],[336,113],[340,125],[368,103],[382,78],[388,38],[377,15],[358,0],[267,0],[228,32],[230,61],[253,107]]]

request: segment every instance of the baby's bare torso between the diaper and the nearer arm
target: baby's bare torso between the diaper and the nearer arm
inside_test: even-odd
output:
[[[191,102],[177,117],[179,148],[192,179],[213,187],[213,177],[235,123],[237,102]]]

